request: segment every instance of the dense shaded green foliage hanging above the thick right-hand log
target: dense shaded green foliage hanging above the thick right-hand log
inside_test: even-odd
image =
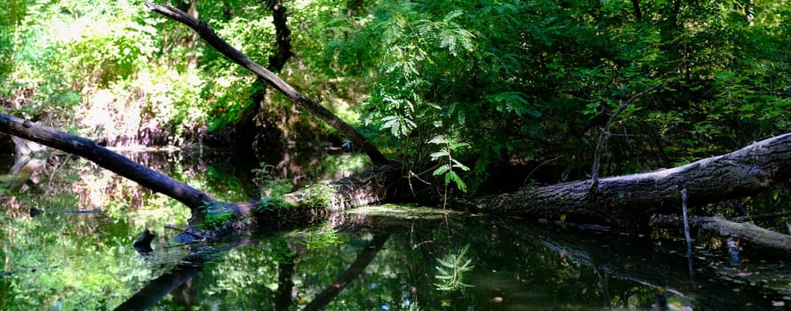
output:
[[[597,129],[624,102],[603,174],[791,130],[787,2],[755,3],[753,27],[741,3],[680,4],[643,4],[637,20],[619,2],[374,2],[368,15],[316,15],[328,35],[314,61],[368,85],[367,133],[405,163],[426,163],[438,135],[467,142],[453,158],[475,163],[456,174],[473,192],[513,160],[563,155],[563,178],[584,178]]]

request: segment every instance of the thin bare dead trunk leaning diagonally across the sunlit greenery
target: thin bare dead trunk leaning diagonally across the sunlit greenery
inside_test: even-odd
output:
[[[304,94],[297,92],[297,90],[295,90],[292,85],[285,83],[285,81],[283,81],[283,79],[281,79],[279,76],[275,75],[267,68],[261,67],[259,64],[250,60],[250,58],[248,58],[243,52],[236,50],[233,46],[223,41],[220,36],[217,36],[217,34],[214,33],[214,30],[209,28],[203,20],[197,20],[196,18],[180,11],[172,5],[162,6],[146,3],[146,7],[148,7],[148,9],[151,11],[160,13],[167,18],[179,21],[180,23],[187,25],[189,28],[194,29],[198,36],[201,36],[207,44],[211,45],[218,52],[221,52],[223,55],[228,57],[228,59],[233,60],[242,67],[247,68],[254,74],[260,76],[278,92],[283,93],[290,100],[300,105],[300,107],[308,110],[308,113],[310,113],[312,116],[322,119],[327,124],[330,124],[332,128],[347,136],[349,140],[356,144],[356,146],[363,148],[365,153],[371,157],[373,163],[388,163],[388,158],[382,155],[379,149],[374,147],[371,142],[365,140],[363,135],[360,134],[360,132],[357,132],[354,127],[341,120],[338,116],[332,114],[330,110],[327,110],[327,108],[324,108],[324,106],[320,105],[316,101],[310,100]]]

